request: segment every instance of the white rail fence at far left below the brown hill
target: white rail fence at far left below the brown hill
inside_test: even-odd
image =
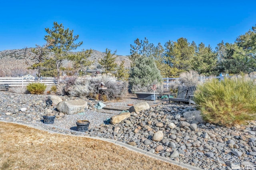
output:
[[[40,82],[40,83],[44,83],[47,86],[49,85],[53,85],[57,83],[56,78],[52,78],[52,77],[43,77],[43,78],[24,78],[22,77],[0,77],[0,84],[8,84],[9,86],[13,87],[13,86],[27,86],[29,83],[32,82]]]

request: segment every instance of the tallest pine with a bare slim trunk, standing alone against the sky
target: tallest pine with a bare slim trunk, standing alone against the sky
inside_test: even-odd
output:
[[[68,51],[76,49],[82,45],[82,42],[74,43],[79,35],[73,36],[73,30],[64,29],[62,23],[54,22],[52,29],[46,28],[45,30],[48,35],[45,35],[44,39],[47,42],[53,41],[48,49],[53,54],[52,62],[54,62],[57,69],[57,82],[60,82],[60,68],[62,67],[62,62],[68,59]]]

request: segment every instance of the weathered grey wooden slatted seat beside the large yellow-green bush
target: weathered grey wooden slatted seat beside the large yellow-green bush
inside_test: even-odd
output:
[[[180,103],[180,102],[189,103],[189,105],[196,104],[192,100],[192,97],[194,96],[195,91],[196,91],[196,86],[190,86],[190,87],[179,86],[177,98],[169,98],[169,104],[170,104],[170,101],[178,102],[178,103]],[[170,95],[174,95],[174,94],[170,94]]]

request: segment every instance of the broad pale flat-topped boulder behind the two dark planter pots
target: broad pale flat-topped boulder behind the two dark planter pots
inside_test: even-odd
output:
[[[63,101],[57,105],[58,111],[68,115],[84,112],[87,108],[87,102],[82,99]]]

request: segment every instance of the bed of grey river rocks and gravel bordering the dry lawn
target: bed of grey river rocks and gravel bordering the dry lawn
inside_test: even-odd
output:
[[[61,98],[76,99],[68,96]],[[188,111],[196,110],[194,106],[159,104],[139,113],[133,112],[131,117],[112,125],[110,117],[120,111],[100,113],[93,107],[97,101],[84,99],[88,101],[89,109],[76,115],[58,113],[51,106],[56,119],[53,124],[47,125],[42,123],[42,115],[48,108],[46,99],[46,95],[1,91],[0,120],[34,125],[58,133],[114,139],[202,169],[256,169],[255,121],[245,126],[226,128],[185,118]],[[132,101],[118,102],[116,107],[132,104]],[[134,104],[137,102],[140,101]],[[88,132],[76,131],[78,119],[90,121]]]

